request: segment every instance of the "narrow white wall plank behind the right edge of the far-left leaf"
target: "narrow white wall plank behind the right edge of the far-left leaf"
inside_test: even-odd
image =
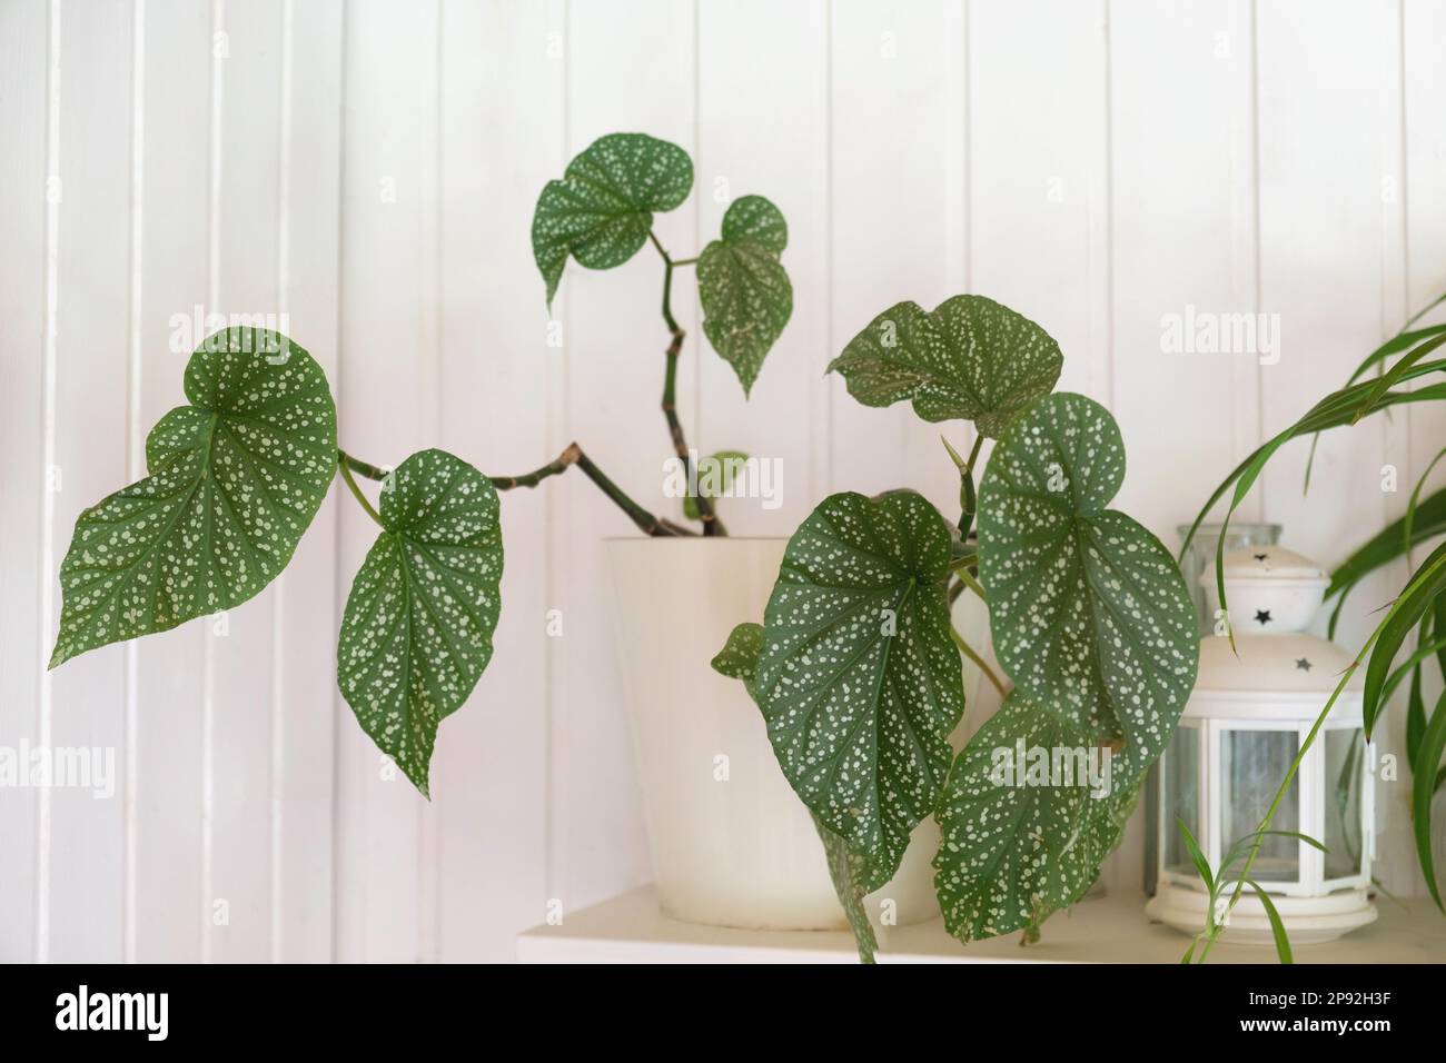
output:
[[[337,247],[341,237],[341,0],[283,6],[281,305],[291,336],[338,383]],[[331,957],[333,781],[337,713],[337,512],[340,484],[317,513],[278,587],[278,683],[272,720],[272,934],[275,959]],[[353,722],[343,719],[343,723]]]

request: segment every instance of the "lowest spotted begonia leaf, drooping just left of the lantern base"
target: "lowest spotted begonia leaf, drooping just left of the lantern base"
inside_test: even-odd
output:
[[[954,761],[936,816],[943,843],[934,888],[949,933],[962,942],[1008,934],[1077,901],[1119,843],[1160,749],[1109,754],[1027,694],[1011,693]],[[1035,751],[1051,764],[1058,755],[1073,774],[1031,777]]]

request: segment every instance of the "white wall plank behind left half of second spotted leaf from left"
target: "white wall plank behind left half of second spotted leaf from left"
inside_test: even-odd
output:
[[[346,126],[341,188],[340,431],[343,447],[396,466],[437,441],[437,343],[424,278],[435,240],[435,189],[425,176],[437,145],[422,136],[435,107],[437,7],[353,3],[346,12]],[[434,250],[435,255],[435,250]],[[341,505],[337,605],[376,526]],[[415,960],[422,950],[424,798],[357,726],[337,726],[337,955]],[[440,742],[448,740],[444,722]]]

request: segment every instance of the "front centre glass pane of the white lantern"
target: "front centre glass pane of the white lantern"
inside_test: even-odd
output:
[[[1226,730],[1220,736],[1220,843],[1228,849],[1238,839],[1254,833],[1275,800],[1285,778],[1300,736],[1294,730]],[[1300,830],[1300,777],[1270,824],[1271,830]],[[1225,871],[1239,874],[1241,865]],[[1267,836],[1251,865],[1251,878],[1261,882],[1291,882],[1300,878],[1300,842],[1293,837]]]

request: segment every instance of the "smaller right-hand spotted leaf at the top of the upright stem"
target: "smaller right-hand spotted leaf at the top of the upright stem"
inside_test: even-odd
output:
[[[794,286],[778,262],[788,224],[762,195],[735,200],[723,215],[723,239],[698,256],[703,334],[733,366],[743,393],[794,312]]]

